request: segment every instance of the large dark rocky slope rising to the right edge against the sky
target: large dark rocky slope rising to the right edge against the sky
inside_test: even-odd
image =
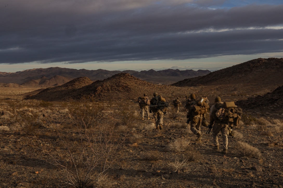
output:
[[[215,92],[222,88],[230,95],[263,95],[283,84],[282,72],[283,58],[258,58],[205,76],[181,80],[172,86],[215,86]]]

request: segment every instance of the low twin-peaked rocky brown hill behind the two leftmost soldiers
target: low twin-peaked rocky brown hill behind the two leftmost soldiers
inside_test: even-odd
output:
[[[54,101],[91,98],[95,101],[136,101],[138,96],[143,95],[143,93],[147,93],[149,97],[152,96],[153,92],[159,92],[160,94],[168,96],[168,93],[172,93],[172,91],[177,91],[176,93],[178,93],[178,89],[179,92],[184,94],[188,91],[188,88],[152,84],[128,73],[119,73],[110,78],[98,80],[93,83],[87,77],[77,78],[62,86],[47,88],[37,95],[28,96],[26,99]]]

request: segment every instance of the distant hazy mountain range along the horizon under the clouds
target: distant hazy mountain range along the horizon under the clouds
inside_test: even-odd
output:
[[[193,78],[196,76],[204,76],[211,73],[209,70],[184,70],[167,69],[162,71],[107,71],[103,69],[86,70],[86,69],[68,69],[60,67],[28,69],[16,73],[0,72],[0,83],[16,83],[22,86],[57,86],[62,85],[72,79],[78,77],[88,77],[92,81],[104,80],[118,73],[128,73],[141,80],[153,84],[173,84],[186,78]]]

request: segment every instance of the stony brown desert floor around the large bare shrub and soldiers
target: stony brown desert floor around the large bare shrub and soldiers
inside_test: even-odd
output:
[[[79,139],[66,103],[46,106],[33,100],[14,102],[2,100],[0,103],[4,112],[0,116],[0,187],[72,187],[64,183],[67,182],[65,171],[48,163],[52,158],[42,150],[44,146],[52,148],[50,154],[64,159],[67,148],[56,127],[70,143]],[[236,128],[235,137],[229,137],[228,154],[222,154],[221,150],[212,149],[212,135],[205,134],[205,127],[202,127],[201,141],[195,141],[196,136],[186,127],[183,108],[178,115],[173,107],[168,109],[164,129],[155,130],[152,118],[141,121],[135,102],[103,105],[101,124],[113,118],[117,121],[116,139],[123,138],[127,130],[128,134],[110,157],[113,164],[106,171],[108,179],[100,187],[282,187],[283,123],[280,120],[267,123],[274,121],[267,118],[264,124]],[[13,119],[16,113],[13,107],[37,109],[35,112],[40,114],[42,124],[33,134],[26,134]],[[132,119],[126,124],[123,118],[129,113]],[[189,144],[178,149],[174,144],[180,139]],[[220,136],[220,143],[221,140]],[[247,154],[237,147],[238,142],[258,151]],[[178,167],[177,162],[184,160],[186,163]]]

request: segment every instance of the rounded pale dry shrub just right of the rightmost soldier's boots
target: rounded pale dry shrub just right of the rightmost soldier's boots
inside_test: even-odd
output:
[[[261,158],[261,152],[258,148],[255,148],[248,143],[238,141],[235,145],[237,151],[246,157]]]

